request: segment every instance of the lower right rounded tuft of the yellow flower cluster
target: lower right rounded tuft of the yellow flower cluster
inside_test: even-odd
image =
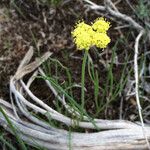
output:
[[[110,38],[106,33],[95,33],[93,37],[93,44],[98,48],[106,48],[110,43]]]

